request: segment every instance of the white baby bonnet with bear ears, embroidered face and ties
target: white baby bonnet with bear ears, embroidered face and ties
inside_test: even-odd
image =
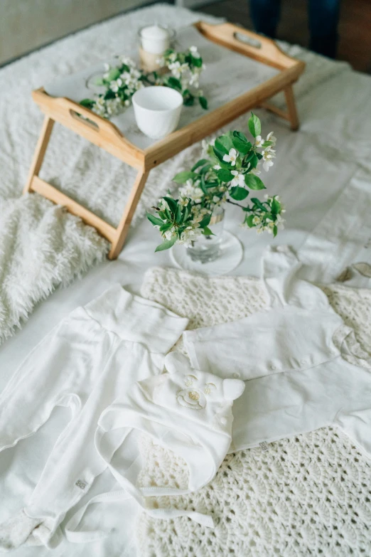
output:
[[[222,379],[195,370],[182,354],[165,359],[168,373],[134,383],[129,393],[102,413],[95,444],[119,484],[149,514],[161,519],[189,516],[213,526],[211,516],[180,509],[151,509],[146,497],[194,492],[215,476],[232,441],[232,403],[244,391],[240,379]],[[181,456],[188,465],[188,489],[172,487],[137,488],[132,478],[111,464],[116,450],[132,430],[151,435],[156,443]],[[122,431],[120,437],[118,430]],[[115,431],[115,435],[112,435]]]

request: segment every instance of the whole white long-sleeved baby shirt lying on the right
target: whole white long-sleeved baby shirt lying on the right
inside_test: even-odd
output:
[[[371,359],[289,248],[262,260],[269,307],[185,331],[191,364],[246,388],[234,405],[230,451],[334,425],[371,456]]]

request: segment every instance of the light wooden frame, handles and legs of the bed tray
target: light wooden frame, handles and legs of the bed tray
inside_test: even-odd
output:
[[[65,97],[51,97],[43,87],[32,93],[33,100],[44,112],[45,119],[23,193],[37,191],[50,201],[65,206],[70,213],[79,216],[85,223],[94,226],[111,243],[109,259],[116,259],[122,250],[141,192],[146,184],[149,171],[154,166],[170,159],[186,147],[212,134],[254,107],[264,107],[271,110],[276,115],[289,120],[291,129],[299,128],[292,85],[303,73],[305,63],[286,55],[269,38],[259,36],[232,23],[210,25],[200,21],[195,23],[195,27],[210,41],[272,66],[280,72],[243,95],[230,100],[225,105],[206,112],[198,120],[177,129],[147,149],[136,147],[125,139],[122,132],[112,122],[97,116],[91,110],[77,104],[77,102]],[[269,98],[280,91],[284,92],[287,112],[267,102]],[[85,120],[85,118],[88,120]],[[102,147],[114,157],[138,170],[134,186],[131,189],[117,228],[39,178],[38,174],[43,164],[54,122],[59,122],[72,129],[73,132],[85,137],[93,144]]]

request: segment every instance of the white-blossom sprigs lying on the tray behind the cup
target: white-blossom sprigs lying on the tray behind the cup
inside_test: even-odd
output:
[[[119,56],[118,64],[106,64],[102,78],[96,85],[105,87],[105,91],[95,95],[93,99],[83,99],[80,105],[90,108],[97,115],[111,118],[119,115],[131,103],[131,97],[138,89],[148,85],[163,85],[181,92],[183,104],[191,106],[198,98],[200,105],[206,110],[208,101],[199,90],[200,74],[205,69],[203,59],[197,48],[191,46],[185,52],[168,49],[158,60],[161,68],[168,68],[171,75],[156,71],[146,73],[136,66],[134,60],[127,56]]]

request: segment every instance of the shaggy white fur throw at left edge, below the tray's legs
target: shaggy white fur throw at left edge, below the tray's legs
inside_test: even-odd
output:
[[[102,260],[107,242],[62,207],[30,193],[1,200],[0,342],[41,299]]]

